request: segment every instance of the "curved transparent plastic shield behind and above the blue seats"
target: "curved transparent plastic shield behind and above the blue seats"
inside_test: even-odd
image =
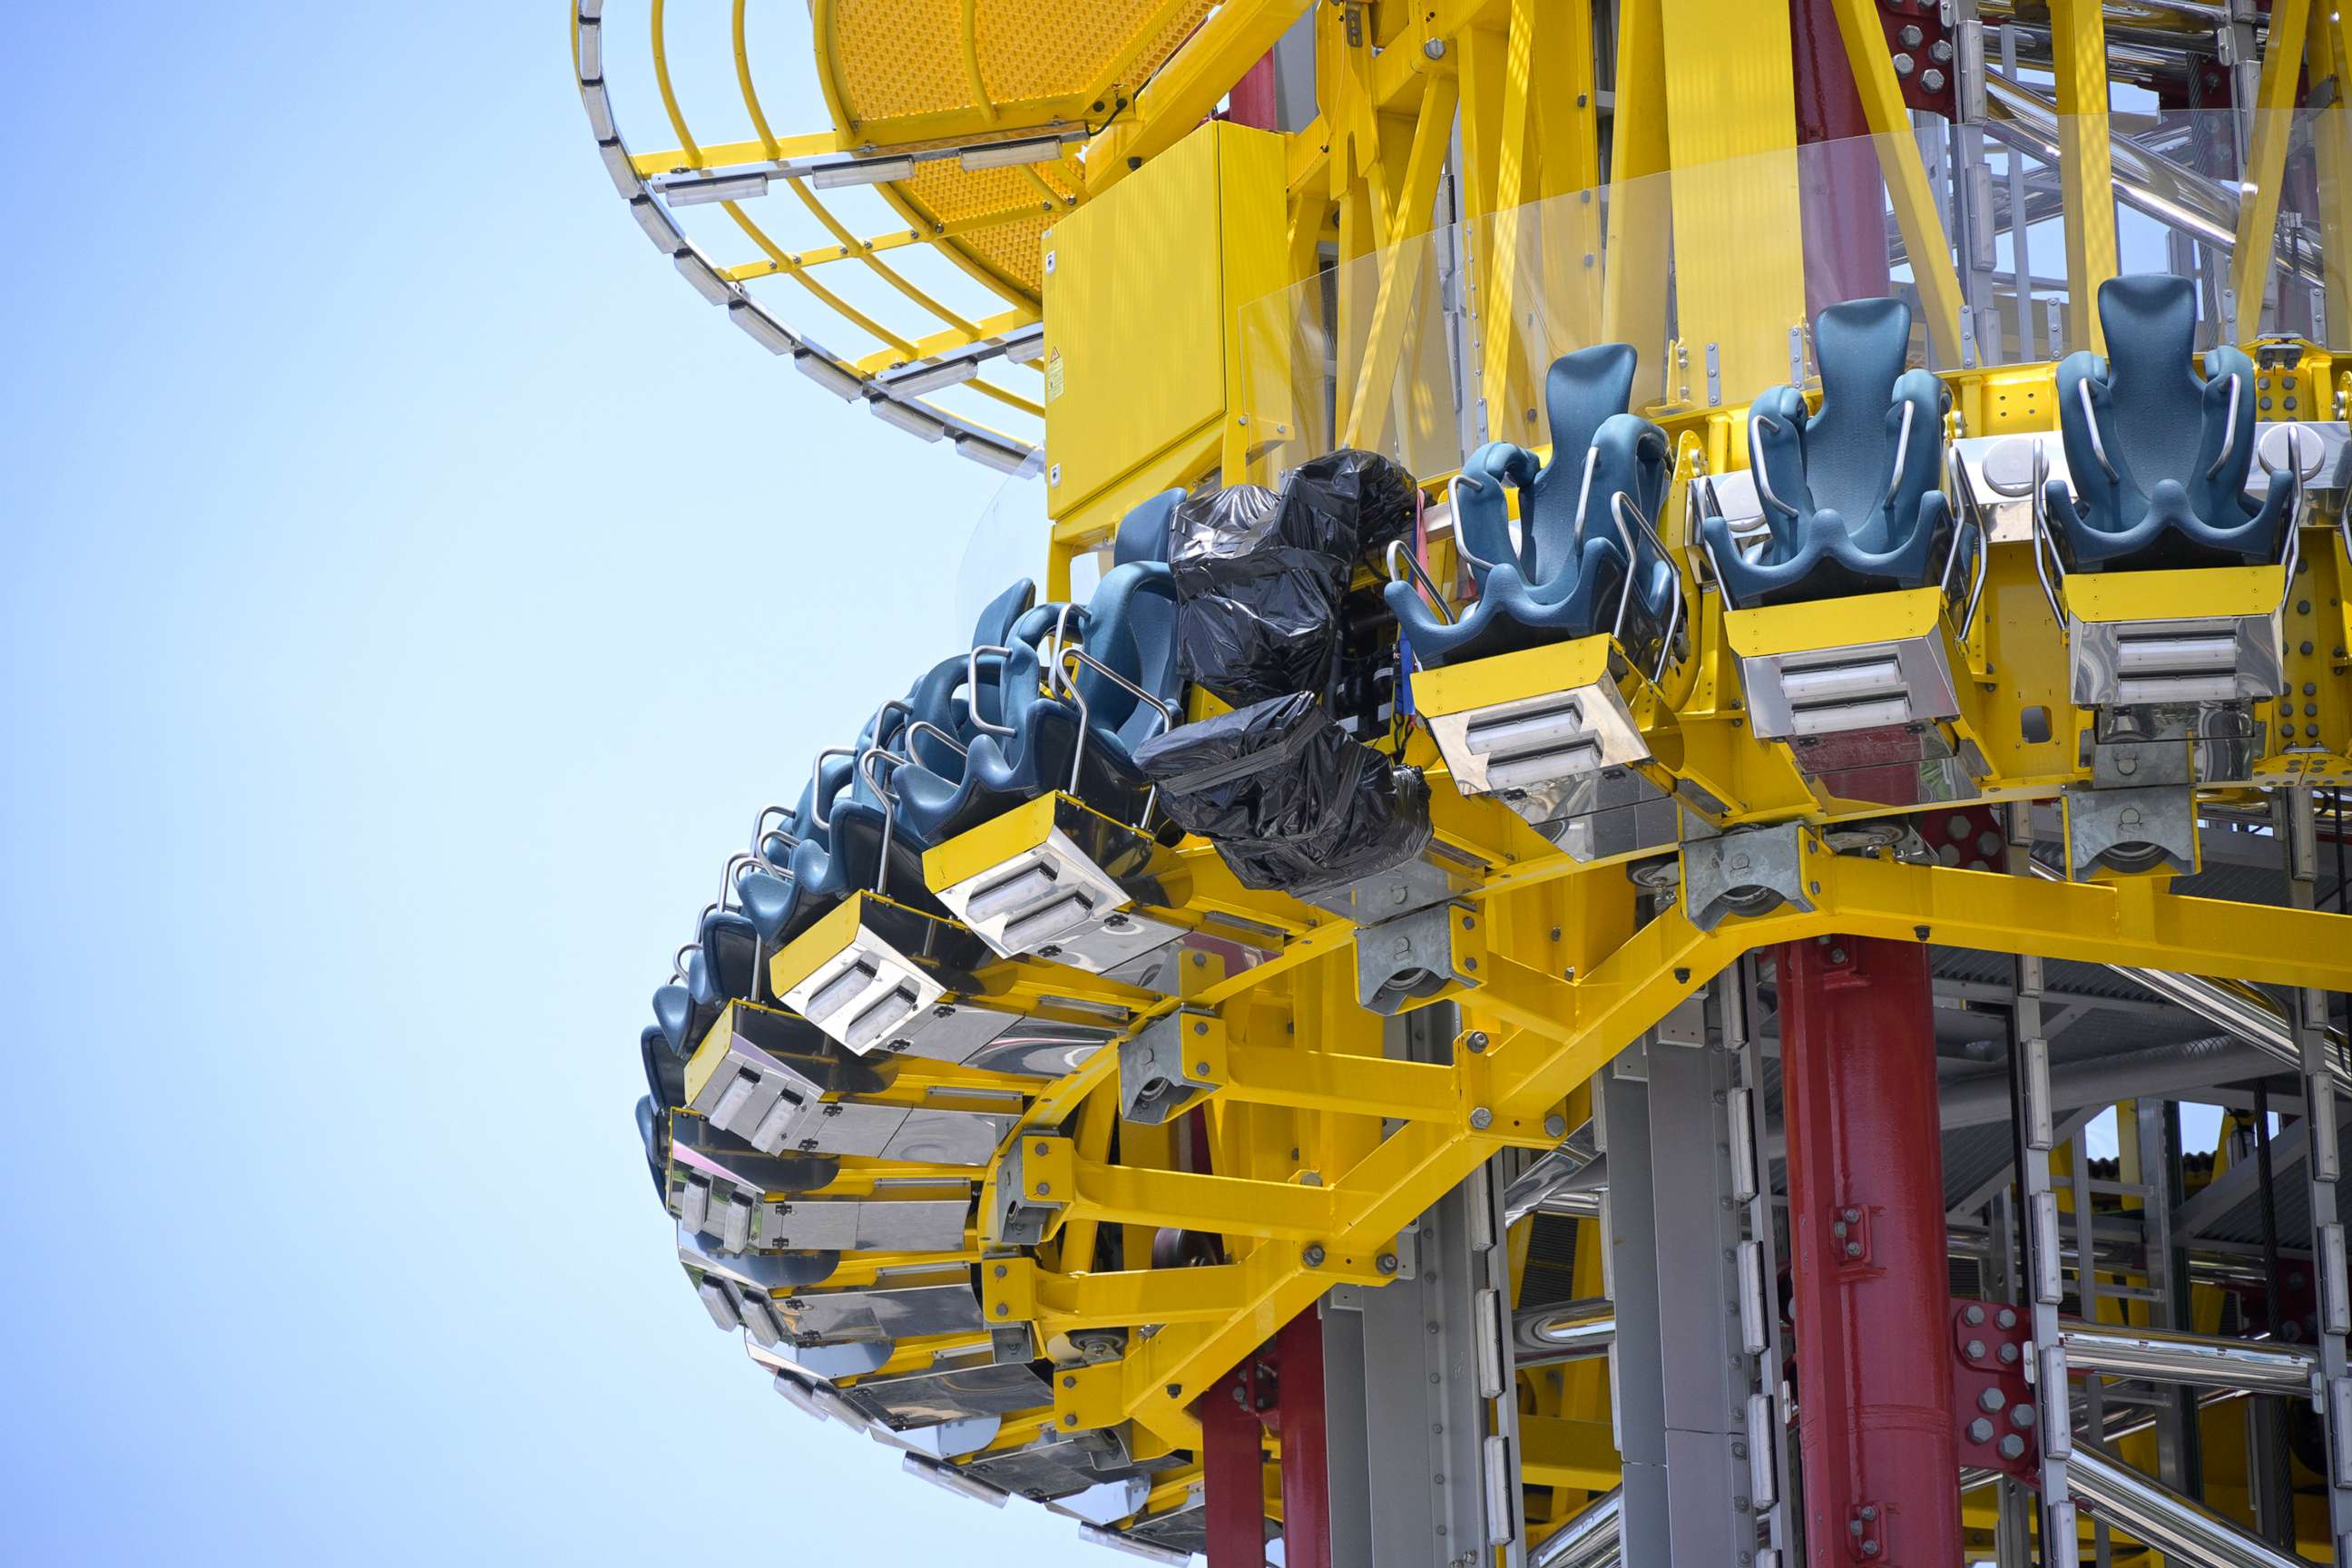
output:
[[[2030,71],[1994,71],[1976,125],[1729,158],[1439,226],[1244,308],[1256,451],[1268,477],[1334,447],[1430,477],[1484,440],[1548,447],[1545,374],[1597,343],[1635,348],[1639,414],[1745,409],[1773,386],[1818,386],[1813,320],[1879,296],[1910,306],[1907,364],[1933,371],[2100,350],[2098,282],[2119,273],[2192,277],[2197,350],[2272,334],[2328,346],[2352,324],[2331,261],[2352,242],[2340,143],[2333,110],[2070,120]],[[2267,266],[2239,263],[2241,230]]]

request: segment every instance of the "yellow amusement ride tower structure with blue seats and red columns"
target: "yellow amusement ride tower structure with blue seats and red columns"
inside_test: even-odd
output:
[[[583,0],[595,148],[1021,555],[647,954],[786,1401],[1211,1568],[2352,1561],[2331,5],[774,7]]]

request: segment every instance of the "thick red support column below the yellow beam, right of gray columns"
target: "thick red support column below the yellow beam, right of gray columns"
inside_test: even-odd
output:
[[[1776,952],[1811,1568],[1943,1568],[1962,1528],[1926,947]]]

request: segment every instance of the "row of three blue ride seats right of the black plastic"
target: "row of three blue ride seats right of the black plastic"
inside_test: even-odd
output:
[[[2072,571],[2260,564],[2274,559],[2291,487],[2246,496],[2253,364],[2211,348],[2192,369],[2197,299],[2185,277],[2117,277],[2098,292],[2107,360],[2058,367],[2058,423],[2072,487],[2051,480],[2053,543]],[[1757,397],[1750,473],[1764,529],[1700,517],[1736,607],[1802,604],[1924,588],[1952,548],[1943,494],[1950,393],[1905,369],[1910,308],[1832,306],[1813,324],[1820,404],[1795,386]],[[1571,353],[1545,378],[1552,461],[1510,442],[1470,454],[1456,541],[1477,585],[1458,618],[1411,583],[1388,602],[1425,665],[1463,663],[1613,630],[1656,635],[1679,595],[1653,522],[1672,477],[1665,433],[1628,414],[1637,355],[1625,343]],[[1503,487],[1519,489],[1519,529]],[[1632,581],[1628,585],[1628,571]]]

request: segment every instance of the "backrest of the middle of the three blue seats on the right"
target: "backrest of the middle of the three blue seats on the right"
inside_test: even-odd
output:
[[[1889,477],[1896,435],[1889,407],[1910,357],[1910,306],[1900,299],[1853,299],[1830,306],[1813,322],[1820,362],[1820,409],[1804,421],[1804,512],[1837,512],[1865,550],[1884,548]],[[1896,414],[1900,418],[1900,411]],[[1919,508],[1915,473],[1933,484],[1936,430],[1912,430],[1896,515]],[[1907,517],[1905,517],[1907,522]]]

